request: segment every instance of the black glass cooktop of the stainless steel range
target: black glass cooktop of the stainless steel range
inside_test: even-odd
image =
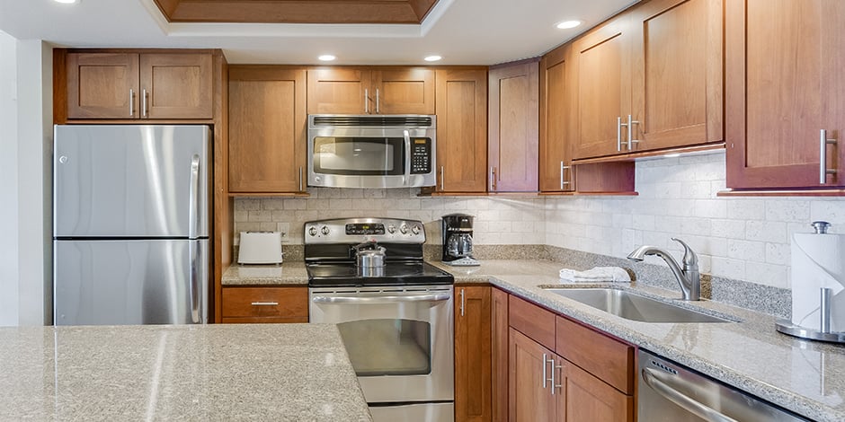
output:
[[[355,264],[308,264],[308,286],[419,286],[450,285],[446,271],[425,262],[388,262],[383,268]]]

